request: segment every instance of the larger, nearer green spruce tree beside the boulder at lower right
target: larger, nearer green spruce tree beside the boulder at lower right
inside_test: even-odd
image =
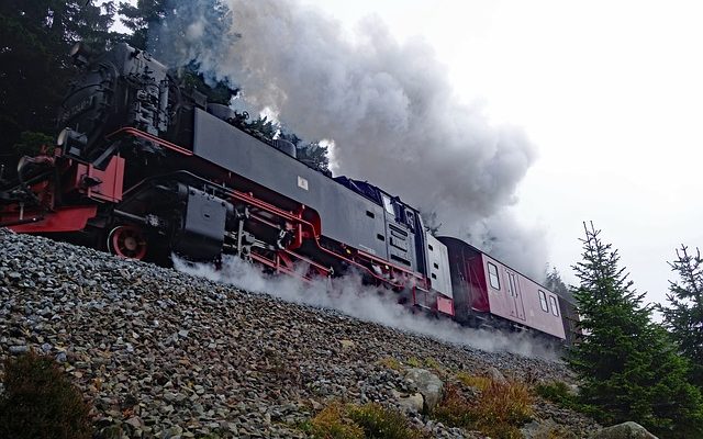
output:
[[[688,361],[651,322],[644,294],[618,267],[617,250],[592,224],[584,228],[583,260],[573,266],[584,337],[568,356],[582,403],[604,424],[634,420],[665,437],[703,437],[701,395],[687,382]]]

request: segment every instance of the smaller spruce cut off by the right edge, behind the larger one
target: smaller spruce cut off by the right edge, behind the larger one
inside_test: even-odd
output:
[[[691,381],[703,389],[703,259],[701,250],[689,254],[681,245],[677,260],[669,262],[679,281],[669,281],[667,301],[670,306],[659,306],[665,327],[679,347],[679,351],[691,360]]]

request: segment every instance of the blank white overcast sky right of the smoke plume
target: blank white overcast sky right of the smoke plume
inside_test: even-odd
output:
[[[674,248],[703,245],[703,3],[304,2],[348,29],[375,14],[425,38],[462,99],[537,146],[514,210],[566,280],[593,221],[636,288],[665,300]]]

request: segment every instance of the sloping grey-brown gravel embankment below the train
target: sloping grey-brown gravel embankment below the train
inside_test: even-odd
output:
[[[334,311],[0,229],[0,359],[55,356],[123,437],[305,437],[297,425],[332,399],[392,405],[409,392],[380,360],[433,359],[570,381],[559,362],[443,344]],[[577,437],[590,420],[549,404],[538,416]],[[481,437],[416,415],[435,437]],[[120,435],[113,435],[120,437]]]

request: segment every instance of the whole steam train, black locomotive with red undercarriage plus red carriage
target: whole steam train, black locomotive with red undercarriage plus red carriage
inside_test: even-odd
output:
[[[0,226],[134,259],[236,255],[311,280],[350,270],[399,301],[467,325],[569,341],[573,306],[454,237],[425,230],[382,188],[333,178],[247,131],[148,53],[78,44],[56,147],[0,187]],[[304,267],[301,271],[300,267]]]

